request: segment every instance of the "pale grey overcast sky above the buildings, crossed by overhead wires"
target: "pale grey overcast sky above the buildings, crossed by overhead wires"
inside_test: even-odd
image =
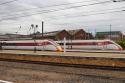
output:
[[[31,24],[44,21],[44,32],[84,29],[87,32],[122,31],[125,1],[112,0],[0,0],[0,32],[30,34]],[[110,26],[111,25],[111,26]]]

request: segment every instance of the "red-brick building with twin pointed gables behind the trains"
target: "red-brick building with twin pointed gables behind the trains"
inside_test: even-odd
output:
[[[76,30],[60,30],[60,31],[52,31],[46,32],[42,34],[37,32],[34,36],[32,34],[33,39],[53,39],[53,40],[63,40],[66,37],[67,40],[83,40],[83,39],[92,39],[93,35],[91,33],[86,33],[83,29],[76,29]]]

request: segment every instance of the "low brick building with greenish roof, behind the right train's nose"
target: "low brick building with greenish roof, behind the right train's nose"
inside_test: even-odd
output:
[[[123,40],[123,34],[121,31],[111,31],[111,32],[97,32],[97,39],[111,39],[114,41]]]

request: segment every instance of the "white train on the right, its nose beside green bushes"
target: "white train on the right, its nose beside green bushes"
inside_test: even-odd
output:
[[[64,41],[56,41],[63,48]],[[67,49],[87,50],[122,50],[122,47],[111,40],[66,40]]]

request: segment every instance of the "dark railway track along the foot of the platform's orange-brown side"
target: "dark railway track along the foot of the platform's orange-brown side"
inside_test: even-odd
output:
[[[97,65],[65,64],[65,63],[56,63],[56,62],[27,61],[27,60],[14,60],[14,59],[0,59],[0,61],[27,63],[27,64],[39,64],[39,65],[52,65],[52,66],[72,67],[72,68],[125,71],[125,67],[113,67],[113,66],[111,67],[111,66],[97,66]]]

